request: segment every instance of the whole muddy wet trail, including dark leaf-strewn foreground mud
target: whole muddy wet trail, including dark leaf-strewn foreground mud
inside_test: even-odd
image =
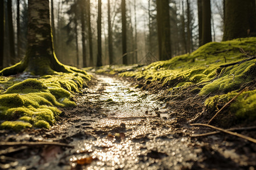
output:
[[[175,123],[171,108],[155,93],[129,80],[94,75],[89,88],[63,111],[51,129],[19,134],[1,131],[1,141],[58,142],[1,148],[0,169],[254,169],[256,145],[226,134]]]

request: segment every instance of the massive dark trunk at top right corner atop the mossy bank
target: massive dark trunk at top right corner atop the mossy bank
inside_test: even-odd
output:
[[[256,36],[255,0],[225,0],[223,41]]]

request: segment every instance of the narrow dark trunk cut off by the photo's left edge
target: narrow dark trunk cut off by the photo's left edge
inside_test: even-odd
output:
[[[0,1],[0,70],[3,69],[3,44],[5,43],[5,2]]]

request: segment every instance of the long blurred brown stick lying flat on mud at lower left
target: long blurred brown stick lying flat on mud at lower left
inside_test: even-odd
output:
[[[55,145],[74,148],[72,145],[59,142],[0,142],[0,146],[41,146],[41,145]]]

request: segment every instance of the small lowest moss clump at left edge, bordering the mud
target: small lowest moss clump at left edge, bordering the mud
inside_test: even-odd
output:
[[[13,129],[14,131],[20,131],[26,128],[32,128],[32,125],[22,121],[5,121],[0,125],[0,129]]]

